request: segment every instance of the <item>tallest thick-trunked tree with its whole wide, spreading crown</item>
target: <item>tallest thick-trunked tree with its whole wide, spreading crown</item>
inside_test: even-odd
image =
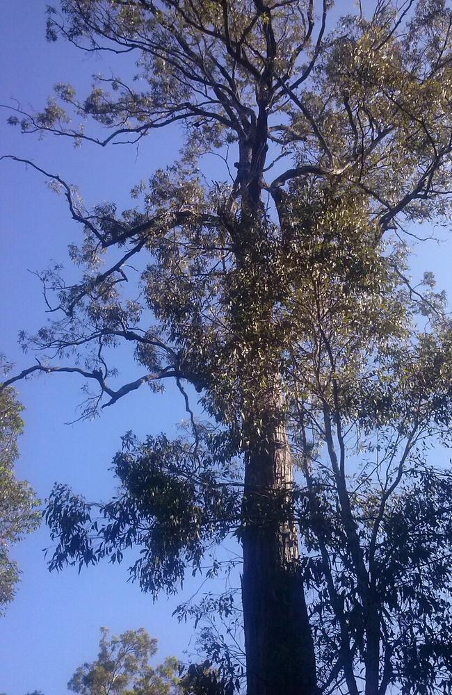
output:
[[[390,230],[401,234],[404,222],[430,220],[448,208],[451,11],[441,0],[399,6],[378,1],[370,13],[348,15],[333,27],[331,4],[62,0],[59,12],[49,10],[49,39],[63,35],[88,51],[135,51],[138,79],[101,77],[85,99],[60,84],[42,113],[16,109],[10,117],[12,124],[21,119],[27,133],[46,131],[102,146],[136,142],[177,122],[184,126],[181,162],[137,186],[142,208],[122,214],[113,203],[86,211],[63,179],[33,165],[63,190],[72,218],[83,225],[85,239],[72,256],[87,270],[72,286],[56,272],[42,275],[49,309],[62,318],[28,341],[60,357],[76,350],[80,359],[76,366],[42,361],[6,384],[34,371],[78,373],[99,386],[86,403],[90,415],[104,398],[104,405],[113,404],[142,384],[159,389],[163,379],[176,380],[193,426],[191,443],[150,439],[144,453],[117,460],[130,493],[129,518],[150,523],[152,545],[136,573],[144,587],[172,589],[186,565],[199,565],[209,544],[230,530],[213,522],[210,512],[225,519],[220,510],[234,510],[243,548],[249,695],[317,689],[291,430],[298,388],[293,375],[301,364],[312,375],[312,359],[298,359],[297,345],[310,339],[301,301],[311,302],[310,313],[321,312],[309,279],[332,275],[323,291],[335,293],[328,309],[335,341],[353,343],[353,331],[382,336],[385,311],[380,316],[375,307],[368,317],[373,324],[348,320],[349,333],[341,334],[342,297],[356,300],[349,312],[362,311],[360,297],[384,306],[384,294],[394,286],[385,266],[392,256],[393,275],[404,282]],[[110,132],[87,134],[72,126],[67,110],[92,117]],[[202,155],[213,149],[228,163],[232,148],[237,156],[231,185],[208,183]],[[273,167],[280,173],[272,177]],[[115,250],[118,256],[111,259]],[[136,254],[147,255],[141,301],[120,295]],[[390,334],[390,321],[387,328]],[[320,335],[324,356],[332,338]],[[107,353],[120,341],[136,344],[147,371],[113,388]],[[184,382],[202,393],[216,427],[196,422]],[[335,410],[323,398],[328,440],[332,423],[337,427],[337,405]],[[333,389],[333,404],[334,398]],[[340,438],[340,427],[338,432]],[[352,534],[354,562],[361,563],[361,600],[369,612],[373,603],[347,512],[346,474],[337,465],[343,521]],[[64,516],[65,509],[57,495],[49,519],[63,546],[70,531],[58,525],[58,514]],[[81,512],[75,524],[81,528],[88,516]],[[178,525],[191,530],[183,539],[175,533]],[[145,542],[146,530],[135,528],[140,530],[126,545]],[[99,553],[118,557],[108,540],[99,553],[83,542],[74,546],[72,558],[79,550],[88,562]],[[66,557],[60,553],[54,564]],[[369,666],[368,695],[378,692],[377,680]]]

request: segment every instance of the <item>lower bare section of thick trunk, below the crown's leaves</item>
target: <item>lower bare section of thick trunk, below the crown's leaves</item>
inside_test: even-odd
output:
[[[248,695],[314,695],[314,646],[290,519],[284,432],[250,449],[243,504],[243,621]]]

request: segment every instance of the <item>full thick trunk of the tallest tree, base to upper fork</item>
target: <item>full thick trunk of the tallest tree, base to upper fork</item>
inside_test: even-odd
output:
[[[269,37],[271,42],[271,37]],[[271,46],[270,46],[271,48]],[[255,343],[261,341],[265,349],[265,336],[257,326],[271,326],[273,300],[268,288],[259,300],[253,277],[261,262],[262,226],[261,178],[268,149],[268,103],[272,89],[271,63],[269,72],[262,76],[257,93],[259,114],[250,131],[250,137],[240,143],[240,161],[236,163],[236,183],[241,191],[241,233],[236,236],[235,252],[243,278],[250,278],[249,291],[258,306],[244,302],[240,293],[232,313],[236,320],[236,333],[244,327],[253,333]],[[246,259],[246,260],[245,260]],[[247,267],[250,265],[250,268]],[[262,272],[266,272],[263,267]],[[246,282],[242,291],[247,291]],[[271,293],[270,293],[271,294]],[[254,312],[254,313],[253,313]],[[266,372],[255,375],[255,383],[271,384],[271,360]],[[264,404],[248,404],[244,410],[244,431],[251,443],[245,452],[245,490],[243,498],[243,577],[242,603],[245,630],[245,652],[248,695],[314,695],[316,694],[316,667],[305,593],[299,565],[298,534],[293,521],[291,492],[293,486],[292,459],[285,429],[278,425],[279,398],[273,386],[266,394],[255,389]],[[245,370],[243,382],[249,383]],[[254,391],[252,389],[251,393]],[[250,394],[247,394],[248,396]],[[257,433],[259,422],[261,433]]]

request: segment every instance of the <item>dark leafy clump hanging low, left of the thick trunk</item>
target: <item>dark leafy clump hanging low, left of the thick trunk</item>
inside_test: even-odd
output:
[[[196,449],[164,435],[145,443],[124,438],[114,461],[120,496],[106,505],[90,505],[56,485],[45,512],[59,540],[51,568],[70,562],[81,569],[104,557],[121,562],[124,550],[140,546],[132,578],[154,595],[176,591],[186,567],[200,571],[207,549],[225,539],[234,521],[239,525],[240,498],[229,489],[227,461],[218,461],[215,446],[208,432]]]

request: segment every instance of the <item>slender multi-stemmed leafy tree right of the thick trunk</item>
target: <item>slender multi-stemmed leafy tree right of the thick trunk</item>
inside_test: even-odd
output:
[[[345,254],[334,249],[328,279],[312,259],[288,370],[318,680],[324,692],[446,693],[452,479],[435,459],[452,434],[451,323],[430,275],[416,306],[396,287],[403,258],[368,252],[347,298],[334,282]]]

